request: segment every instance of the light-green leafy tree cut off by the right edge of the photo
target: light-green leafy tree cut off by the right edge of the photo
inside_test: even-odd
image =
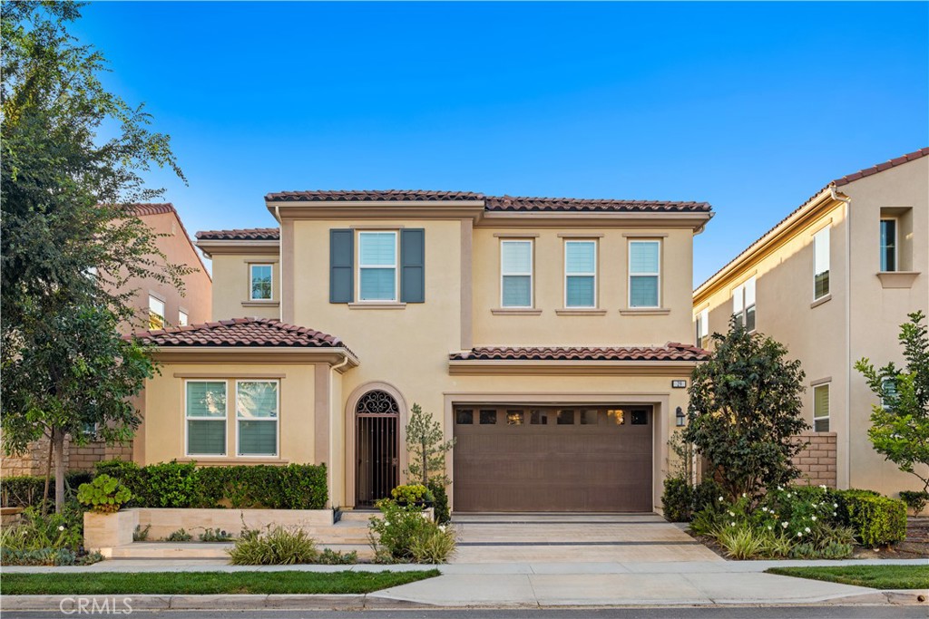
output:
[[[875,369],[870,360],[857,361],[873,393],[882,404],[871,410],[868,431],[874,450],[890,460],[900,471],[922,481],[922,491],[929,491],[929,335],[922,312],[909,314],[909,322],[900,325],[898,340],[903,344],[906,368],[893,362]]]

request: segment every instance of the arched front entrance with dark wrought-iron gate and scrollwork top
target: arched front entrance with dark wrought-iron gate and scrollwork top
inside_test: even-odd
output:
[[[380,390],[362,395],[355,406],[355,436],[358,441],[356,505],[371,507],[390,496],[399,483],[399,406]]]

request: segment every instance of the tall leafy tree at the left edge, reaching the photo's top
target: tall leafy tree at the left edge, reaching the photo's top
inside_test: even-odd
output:
[[[128,208],[161,194],[141,176],[152,164],[183,178],[169,138],[100,83],[103,57],[67,32],[81,6],[0,6],[3,441],[17,452],[46,434],[58,509],[65,434],[81,443],[81,426],[96,423],[124,438],[138,424],[124,397],[151,366],[144,348],[118,336],[120,323],[142,319],[127,282],[182,290],[188,272],[166,264],[157,236]]]

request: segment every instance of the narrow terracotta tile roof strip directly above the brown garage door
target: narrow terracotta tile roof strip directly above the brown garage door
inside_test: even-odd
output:
[[[702,348],[677,342],[664,346],[489,346],[452,353],[452,361],[703,361]]]

